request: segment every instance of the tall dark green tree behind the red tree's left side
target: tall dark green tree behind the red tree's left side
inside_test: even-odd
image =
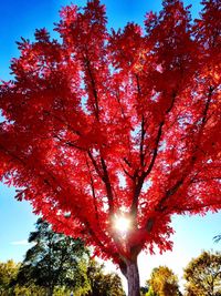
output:
[[[45,288],[45,295],[50,296],[54,295],[57,286],[73,290],[88,288],[85,273],[88,252],[81,239],[57,234],[39,218],[36,231],[30,234],[29,242],[34,246],[27,252],[15,284],[38,285]]]

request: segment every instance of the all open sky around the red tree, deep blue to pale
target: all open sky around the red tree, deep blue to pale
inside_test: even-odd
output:
[[[69,4],[67,0],[6,0],[0,6],[0,79],[10,79],[9,64],[18,57],[15,41],[20,37],[33,38],[35,28],[53,30],[53,22],[59,20],[59,9]],[[72,1],[84,6],[84,0]],[[199,1],[193,2],[192,14],[198,16]],[[123,27],[128,21],[143,23],[147,11],[158,11],[160,0],[104,0],[108,16],[108,28]],[[29,233],[34,229],[36,217],[27,202],[13,198],[14,188],[0,185],[0,261],[13,258],[21,261],[28,245]],[[208,214],[204,217],[175,217],[176,229],[172,253],[156,255],[151,258],[141,255],[139,261],[141,279],[149,275],[152,267],[166,264],[181,275],[182,268],[191,257],[198,256],[201,249],[221,249],[221,244],[213,243],[213,236],[221,233],[221,215]]]

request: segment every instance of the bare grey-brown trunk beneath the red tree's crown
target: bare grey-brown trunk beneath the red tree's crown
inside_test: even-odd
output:
[[[128,296],[140,296],[137,258],[133,262],[127,262],[126,266],[127,266],[126,278],[128,285]]]

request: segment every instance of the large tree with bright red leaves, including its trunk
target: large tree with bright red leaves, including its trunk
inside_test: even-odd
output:
[[[221,6],[191,22],[165,0],[145,28],[106,29],[98,0],[18,42],[0,89],[0,175],[54,229],[112,258],[139,295],[137,256],[171,248],[173,214],[221,208]],[[119,232],[116,221],[127,218]]]

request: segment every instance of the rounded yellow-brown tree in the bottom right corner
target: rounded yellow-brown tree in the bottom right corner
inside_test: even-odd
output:
[[[203,252],[185,268],[187,296],[221,295],[221,253]]]

